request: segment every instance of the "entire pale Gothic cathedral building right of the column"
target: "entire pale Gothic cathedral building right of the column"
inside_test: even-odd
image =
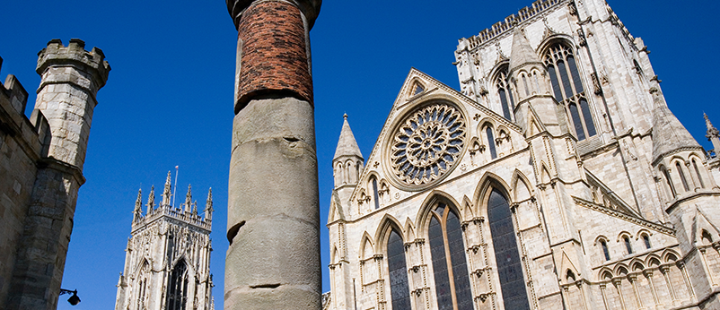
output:
[[[415,69],[333,159],[326,309],[718,309],[720,134],[699,146],[605,1],[540,0]]]

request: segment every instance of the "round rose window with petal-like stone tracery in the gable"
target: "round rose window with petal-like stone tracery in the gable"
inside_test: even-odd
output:
[[[460,157],[465,120],[444,103],[418,108],[400,123],[391,144],[391,168],[407,185],[440,179]]]

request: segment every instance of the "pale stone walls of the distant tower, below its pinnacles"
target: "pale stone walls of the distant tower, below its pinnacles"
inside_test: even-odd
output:
[[[116,309],[165,308],[171,271],[180,260],[188,266],[186,308],[214,308],[209,220],[163,205],[133,222],[126,252]]]

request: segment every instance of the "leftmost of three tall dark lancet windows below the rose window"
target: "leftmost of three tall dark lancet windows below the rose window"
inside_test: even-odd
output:
[[[388,238],[388,271],[390,271],[390,293],[393,310],[410,310],[410,288],[408,267],[405,263],[405,245],[400,234],[391,230]]]

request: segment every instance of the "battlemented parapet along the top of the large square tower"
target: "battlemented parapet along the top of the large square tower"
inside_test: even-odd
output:
[[[507,16],[505,17],[505,20],[496,22],[490,28],[480,31],[478,35],[472,36],[468,39],[459,39],[458,50],[463,48],[463,42],[466,42],[465,45],[469,50],[475,49],[487,41],[495,39],[505,33],[505,31],[513,29],[515,23],[519,24],[525,22],[540,13],[549,11],[549,8],[557,4],[566,2],[567,0],[537,0],[530,6],[525,6],[520,9],[518,13]]]

